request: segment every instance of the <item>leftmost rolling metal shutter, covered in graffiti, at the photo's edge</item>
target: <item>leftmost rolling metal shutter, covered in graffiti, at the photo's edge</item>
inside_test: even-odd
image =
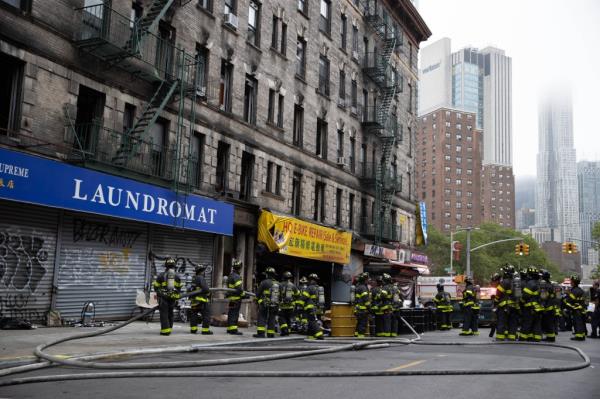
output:
[[[0,317],[45,320],[57,231],[56,209],[0,201]]]

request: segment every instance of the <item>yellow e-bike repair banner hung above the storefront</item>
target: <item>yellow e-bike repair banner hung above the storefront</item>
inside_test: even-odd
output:
[[[262,211],[258,241],[270,251],[341,264],[350,263],[352,233]]]

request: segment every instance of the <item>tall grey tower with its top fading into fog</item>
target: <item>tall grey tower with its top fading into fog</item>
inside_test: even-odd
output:
[[[577,166],[573,147],[570,91],[546,96],[540,103],[535,223],[553,234],[552,241],[579,239]]]

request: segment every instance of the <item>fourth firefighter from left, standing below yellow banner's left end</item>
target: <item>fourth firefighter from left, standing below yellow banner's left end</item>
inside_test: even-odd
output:
[[[279,306],[279,284],[275,280],[275,269],[267,267],[263,272],[265,279],[260,282],[256,291],[258,302],[258,320],[254,338],[275,337],[275,316]]]

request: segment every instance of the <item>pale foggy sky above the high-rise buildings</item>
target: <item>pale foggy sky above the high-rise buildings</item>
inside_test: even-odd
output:
[[[419,0],[433,35],[452,51],[488,45],[513,63],[513,166],[535,175],[538,103],[571,85],[577,160],[600,160],[600,0]]]

